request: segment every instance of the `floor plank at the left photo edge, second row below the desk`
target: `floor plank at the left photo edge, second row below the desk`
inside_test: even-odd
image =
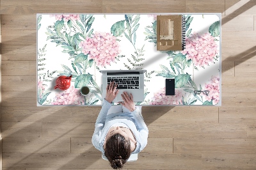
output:
[[[40,137],[42,123],[2,122],[2,137]]]

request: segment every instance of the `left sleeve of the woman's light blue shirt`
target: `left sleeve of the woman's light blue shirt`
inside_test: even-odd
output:
[[[102,146],[100,144],[100,137],[102,136],[102,128],[104,128],[108,110],[111,104],[107,100],[102,100],[102,107],[100,109],[99,115],[95,123],[95,130],[92,136],[92,144],[97,148],[97,150],[102,151]]]

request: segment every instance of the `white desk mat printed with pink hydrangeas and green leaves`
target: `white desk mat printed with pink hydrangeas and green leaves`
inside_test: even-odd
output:
[[[136,105],[218,104],[220,15],[182,15],[186,20],[182,51],[156,50],[156,14],[38,15],[38,105],[101,105],[99,70],[104,69],[147,70],[145,100]],[[65,91],[54,89],[60,75],[72,75]],[[166,78],[175,79],[174,96],[165,95]],[[81,86],[90,88],[88,96],[81,95]]]

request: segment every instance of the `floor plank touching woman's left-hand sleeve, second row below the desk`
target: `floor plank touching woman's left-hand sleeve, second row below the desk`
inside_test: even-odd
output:
[[[44,137],[92,137],[95,123],[42,123]]]

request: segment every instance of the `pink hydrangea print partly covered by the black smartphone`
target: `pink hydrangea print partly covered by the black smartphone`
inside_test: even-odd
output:
[[[165,88],[162,88],[154,93],[153,102],[150,102],[150,105],[182,105],[182,96],[182,91],[178,89],[175,89],[174,96],[166,96]]]

